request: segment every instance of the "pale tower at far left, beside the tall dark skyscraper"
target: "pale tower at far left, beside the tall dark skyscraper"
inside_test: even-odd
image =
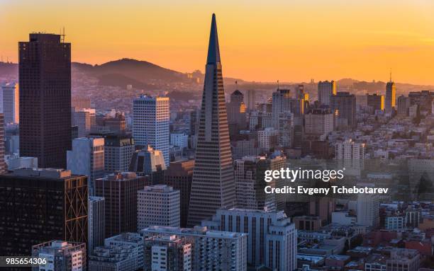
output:
[[[18,124],[20,122],[20,93],[18,83],[4,83],[1,85],[2,110],[4,124]]]

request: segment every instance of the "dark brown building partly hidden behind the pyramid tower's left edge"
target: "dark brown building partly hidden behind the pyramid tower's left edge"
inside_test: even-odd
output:
[[[191,180],[193,178],[194,160],[170,162],[169,168],[165,171],[163,184],[172,186],[174,190],[179,190],[181,200],[179,202],[181,210],[181,227],[187,227],[189,214]]]

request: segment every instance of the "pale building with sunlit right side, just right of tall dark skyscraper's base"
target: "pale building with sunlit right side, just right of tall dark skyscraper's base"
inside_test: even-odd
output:
[[[67,169],[72,174],[87,175],[89,195],[94,195],[94,181],[104,175],[104,138],[72,140],[72,151],[67,151]]]

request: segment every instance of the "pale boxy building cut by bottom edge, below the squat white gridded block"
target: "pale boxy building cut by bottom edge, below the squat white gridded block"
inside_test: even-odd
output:
[[[191,243],[185,237],[157,235],[145,239],[144,270],[191,271]]]

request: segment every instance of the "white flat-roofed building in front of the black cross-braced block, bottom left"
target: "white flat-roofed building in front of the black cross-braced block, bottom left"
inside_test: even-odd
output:
[[[32,256],[45,258],[45,264],[32,270],[82,271],[86,270],[86,243],[48,241],[32,247]]]

